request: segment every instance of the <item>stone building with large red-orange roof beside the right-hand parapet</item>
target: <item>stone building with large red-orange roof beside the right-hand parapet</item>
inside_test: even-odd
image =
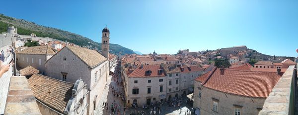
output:
[[[214,68],[195,79],[196,114],[258,115],[280,77],[277,72]]]

